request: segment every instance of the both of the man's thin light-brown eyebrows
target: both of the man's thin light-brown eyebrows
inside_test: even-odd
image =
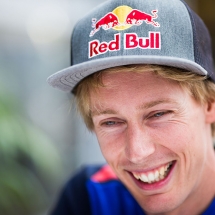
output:
[[[162,100],[156,100],[152,102],[148,102],[146,104],[140,105],[137,109],[143,110],[143,109],[149,109],[152,108],[156,105],[159,104],[164,104],[164,103],[170,103],[170,104],[178,104],[176,101],[173,101],[171,99],[162,99]],[[105,114],[117,114],[118,112],[112,109],[104,109],[104,110],[99,110],[96,109],[94,111],[91,111],[91,116],[99,116],[99,115],[105,115]]]

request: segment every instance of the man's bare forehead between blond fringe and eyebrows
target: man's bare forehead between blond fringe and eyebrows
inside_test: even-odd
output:
[[[104,86],[90,91],[91,108],[95,106],[144,105],[158,101],[176,101],[183,99],[184,90],[178,82],[162,78],[153,72],[105,73],[102,76]]]

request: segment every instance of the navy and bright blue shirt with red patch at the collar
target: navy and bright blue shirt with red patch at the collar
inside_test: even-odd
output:
[[[51,215],[145,215],[110,167],[87,166],[65,186]],[[202,215],[215,215],[215,199]]]

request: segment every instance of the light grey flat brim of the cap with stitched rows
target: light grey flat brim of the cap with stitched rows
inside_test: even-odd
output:
[[[48,83],[60,90],[71,92],[82,79],[95,72],[111,67],[130,64],[173,66],[176,68],[186,69],[200,75],[207,75],[207,71],[199,64],[183,58],[163,56],[117,56],[73,65],[51,75],[48,78]]]

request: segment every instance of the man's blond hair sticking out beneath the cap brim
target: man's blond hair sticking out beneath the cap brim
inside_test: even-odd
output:
[[[157,65],[128,65],[113,67],[94,73],[83,79],[74,89],[76,104],[84,122],[89,130],[93,130],[91,117],[89,92],[95,91],[99,87],[105,87],[102,83],[102,76],[106,73],[118,72],[154,72],[156,75],[174,80],[187,90],[190,95],[200,104],[213,102],[215,100],[215,84],[207,79],[206,76],[198,75],[193,72],[178,69],[175,67]],[[211,125],[212,135],[215,136],[215,123]]]

